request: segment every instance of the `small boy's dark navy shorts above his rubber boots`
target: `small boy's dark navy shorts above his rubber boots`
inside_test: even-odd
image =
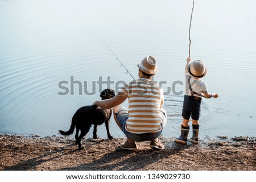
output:
[[[191,117],[193,120],[199,120],[201,101],[202,98],[197,97],[197,100],[195,100],[194,96],[184,95],[182,117],[184,119],[189,119]]]

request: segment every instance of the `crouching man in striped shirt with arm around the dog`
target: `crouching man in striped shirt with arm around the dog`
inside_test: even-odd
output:
[[[137,143],[151,141],[150,147],[161,150],[159,136],[166,125],[166,111],[163,109],[163,90],[152,80],[158,72],[156,60],[152,56],[145,57],[139,68],[139,79],[125,85],[122,90],[109,100],[94,102],[94,105],[105,109],[114,107],[114,118],[127,140],[121,144],[126,150],[137,150]],[[122,106],[128,98],[129,110]]]

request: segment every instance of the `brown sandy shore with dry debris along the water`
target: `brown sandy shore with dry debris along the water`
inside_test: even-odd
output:
[[[82,139],[0,135],[0,170],[256,170],[255,137],[178,144],[162,138],[161,151],[141,142],[139,150],[119,147],[125,139]]]

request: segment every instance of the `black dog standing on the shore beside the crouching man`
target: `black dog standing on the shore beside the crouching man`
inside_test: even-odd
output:
[[[102,100],[109,99],[115,96],[115,92],[112,89],[105,89],[101,92],[100,97]],[[83,149],[81,147],[81,139],[88,133],[90,127],[94,125],[93,130],[93,138],[97,138],[97,126],[102,125],[105,122],[107,134],[109,139],[113,139],[113,137],[109,133],[109,121],[112,115],[111,109],[103,109],[96,105],[84,106],[81,107],[76,113],[73,115],[71,127],[68,131],[60,131],[61,135],[71,135],[75,130],[76,126],[76,143],[79,146],[79,149]],[[79,135],[79,130],[81,133]]]

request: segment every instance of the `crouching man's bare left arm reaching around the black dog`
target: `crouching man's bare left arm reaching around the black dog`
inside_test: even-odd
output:
[[[127,98],[126,94],[117,94],[115,97],[106,99],[106,100],[100,100],[100,101],[95,101],[93,105],[102,107],[104,109],[110,109],[114,106],[117,106],[119,104],[122,104]]]

